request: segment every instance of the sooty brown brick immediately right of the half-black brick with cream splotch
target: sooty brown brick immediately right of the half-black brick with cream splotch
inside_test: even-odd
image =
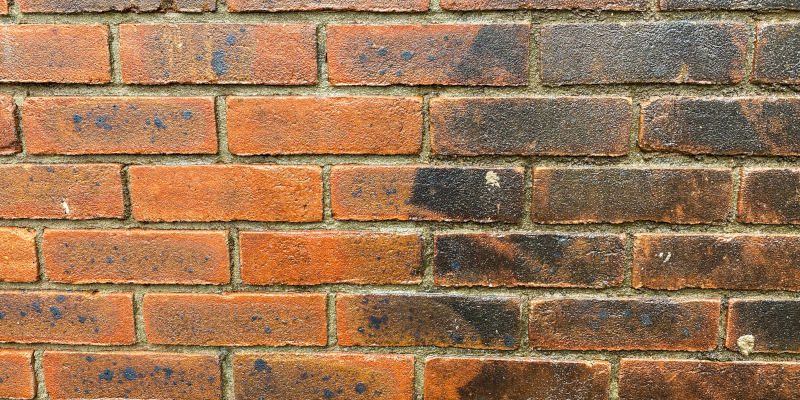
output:
[[[533,220],[581,224],[724,222],[733,182],[721,168],[560,168],[533,171]]]

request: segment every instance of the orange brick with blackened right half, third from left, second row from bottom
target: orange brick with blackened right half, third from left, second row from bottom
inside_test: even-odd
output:
[[[514,297],[411,293],[339,294],[341,346],[519,347],[520,302]]]

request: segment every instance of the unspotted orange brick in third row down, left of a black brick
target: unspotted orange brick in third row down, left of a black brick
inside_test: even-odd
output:
[[[415,154],[420,97],[231,97],[234,154]]]

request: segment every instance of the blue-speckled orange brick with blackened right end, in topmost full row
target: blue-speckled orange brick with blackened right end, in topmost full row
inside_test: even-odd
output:
[[[528,83],[530,26],[339,25],[328,27],[334,85]]]

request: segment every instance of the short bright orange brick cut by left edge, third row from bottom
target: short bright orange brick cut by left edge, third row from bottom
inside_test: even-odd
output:
[[[36,256],[36,231],[25,228],[0,228],[0,281],[36,282],[39,266]]]

